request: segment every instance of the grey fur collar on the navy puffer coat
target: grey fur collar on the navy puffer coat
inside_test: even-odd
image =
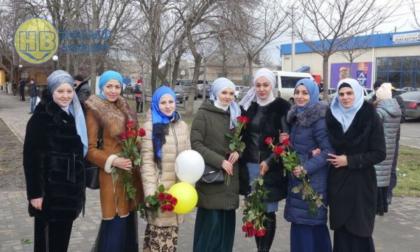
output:
[[[287,122],[294,123],[296,120],[304,127],[309,127],[317,120],[324,118],[330,108],[328,102],[321,101],[307,107],[302,113],[297,113],[298,106],[293,105],[292,109],[287,113]]]

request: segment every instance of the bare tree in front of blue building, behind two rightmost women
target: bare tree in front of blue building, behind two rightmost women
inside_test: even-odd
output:
[[[328,98],[328,59],[352,38],[371,33],[397,8],[386,1],[299,0],[302,19],[297,36],[323,57],[323,97]],[[395,4],[395,1],[393,1]],[[296,24],[296,23],[295,23]],[[314,41],[316,40],[316,41]]]

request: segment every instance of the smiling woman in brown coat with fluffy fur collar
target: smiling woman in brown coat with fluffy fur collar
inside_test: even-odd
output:
[[[106,71],[99,79],[99,96],[92,95],[85,101],[89,151],[87,160],[101,168],[99,188],[102,223],[93,251],[138,251],[137,216],[134,202],[123,197],[120,180],[113,181],[111,167],[133,169],[128,158],[118,158],[123,146],[120,134],[127,130],[126,122],[137,116],[123,97],[120,97],[123,77],[116,71]],[[102,127],[102,149],[97,149],[97,135]],[[139,167],[134,167],[134,186],[137,188],[137,203],[143,200],[143,188]],[[125,194],[127,195],[127,194]]]

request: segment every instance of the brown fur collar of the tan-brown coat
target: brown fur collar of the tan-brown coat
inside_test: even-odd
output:
[[[118,137],[125,132],[128,120],[134,121],[134,127],[138,129],[137,114],[123,97],[118,97],[116,102],[104,101],[96,95],[91,95],[85,101],[86,109],[90,109],[99,125],[109,129],[111,137]]]

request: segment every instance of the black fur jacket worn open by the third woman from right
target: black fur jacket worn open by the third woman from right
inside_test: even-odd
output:
[[[269,165],[269,171],[264,176],[265,186],[269,190],[268,202],[276,202],[286,198],[287,177],[283,174],[283,164],[281,161],[275,162],[273,158],[270,158],[272,151],[269,150],[264,140],[267,137],[272,137],[274,138],[274,144],[277,144],[279,143],[279,130],[289,132],[286,123],[289,109],[290,104],[281,98],[276,98],[271,104],[260,107],[260,110],[258,110],[256,102],[253,102],[247,111],[241,108],[241,116],[246,116],[250,119],[250,123],[242,132],[242,141],[244,141],[246,146],[251,146],[251,144],[258,146],[258,150],[250,150],[250,148],[247,150],[245,148],[239,160],[239,193],[241,195],[247,195],[251,191],[246,162],[258,160],[259,162],[266,161]],[[257,116],[257,111],[260,111],[262,115],[258,116],[260,118],[259,123],[257,123],[258,129],[255,129],[255,127],[251,127],[251,124],[253,123],[253,118]],[[254,134],[259,134],[258,140],[255,137],[251,137],[251,129],[255,129],[253,130]],[[251,141],[258,141],[258,143],[251,143]]]

